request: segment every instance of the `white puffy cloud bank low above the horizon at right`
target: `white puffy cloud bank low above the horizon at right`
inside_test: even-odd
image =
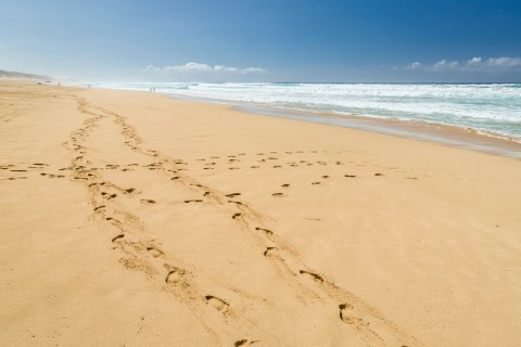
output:
[[[433,65],[415,62],[405,66],[405,69],[427,72],[506,72],[521,69],[521,57],[501,56],[483,60],[481,56],[474,56],[466,62],[442,60]]]

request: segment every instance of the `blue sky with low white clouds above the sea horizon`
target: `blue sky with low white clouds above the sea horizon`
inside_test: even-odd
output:
[[[519,0],[2,0],[0,17],[0,69],[55,77],[521,81]]]

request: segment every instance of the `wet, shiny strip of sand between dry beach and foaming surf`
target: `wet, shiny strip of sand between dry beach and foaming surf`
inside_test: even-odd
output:
[[[482,133],[480,132],[481,130],[472,128],[450,126],[440,123],[428,123],[423,120],[403,120],[397,118],[377,118],[364,115],[314,113],[306,110],[276,107],[262,103],[187,97],[183,94],[166,92],[158,93],[178,100],[231,105],[232,108],[246,113],[367,130],[397,136],[405,139],[434,142],[454,147],[521,159],[521,142],[512,139],[505,139],[506,136],[496,134],[492,131]]]

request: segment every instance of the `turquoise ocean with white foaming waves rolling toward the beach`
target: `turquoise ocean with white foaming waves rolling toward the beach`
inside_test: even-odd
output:
[[[445,125],[521,143],[521,83],[140,82],[100,87],[145,91],[153,87],[173,95],[278,110]]]

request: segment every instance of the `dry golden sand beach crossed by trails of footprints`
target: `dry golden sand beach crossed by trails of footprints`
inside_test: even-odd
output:
[[[0,82],[2,346],[517,346],[521,162]]]

